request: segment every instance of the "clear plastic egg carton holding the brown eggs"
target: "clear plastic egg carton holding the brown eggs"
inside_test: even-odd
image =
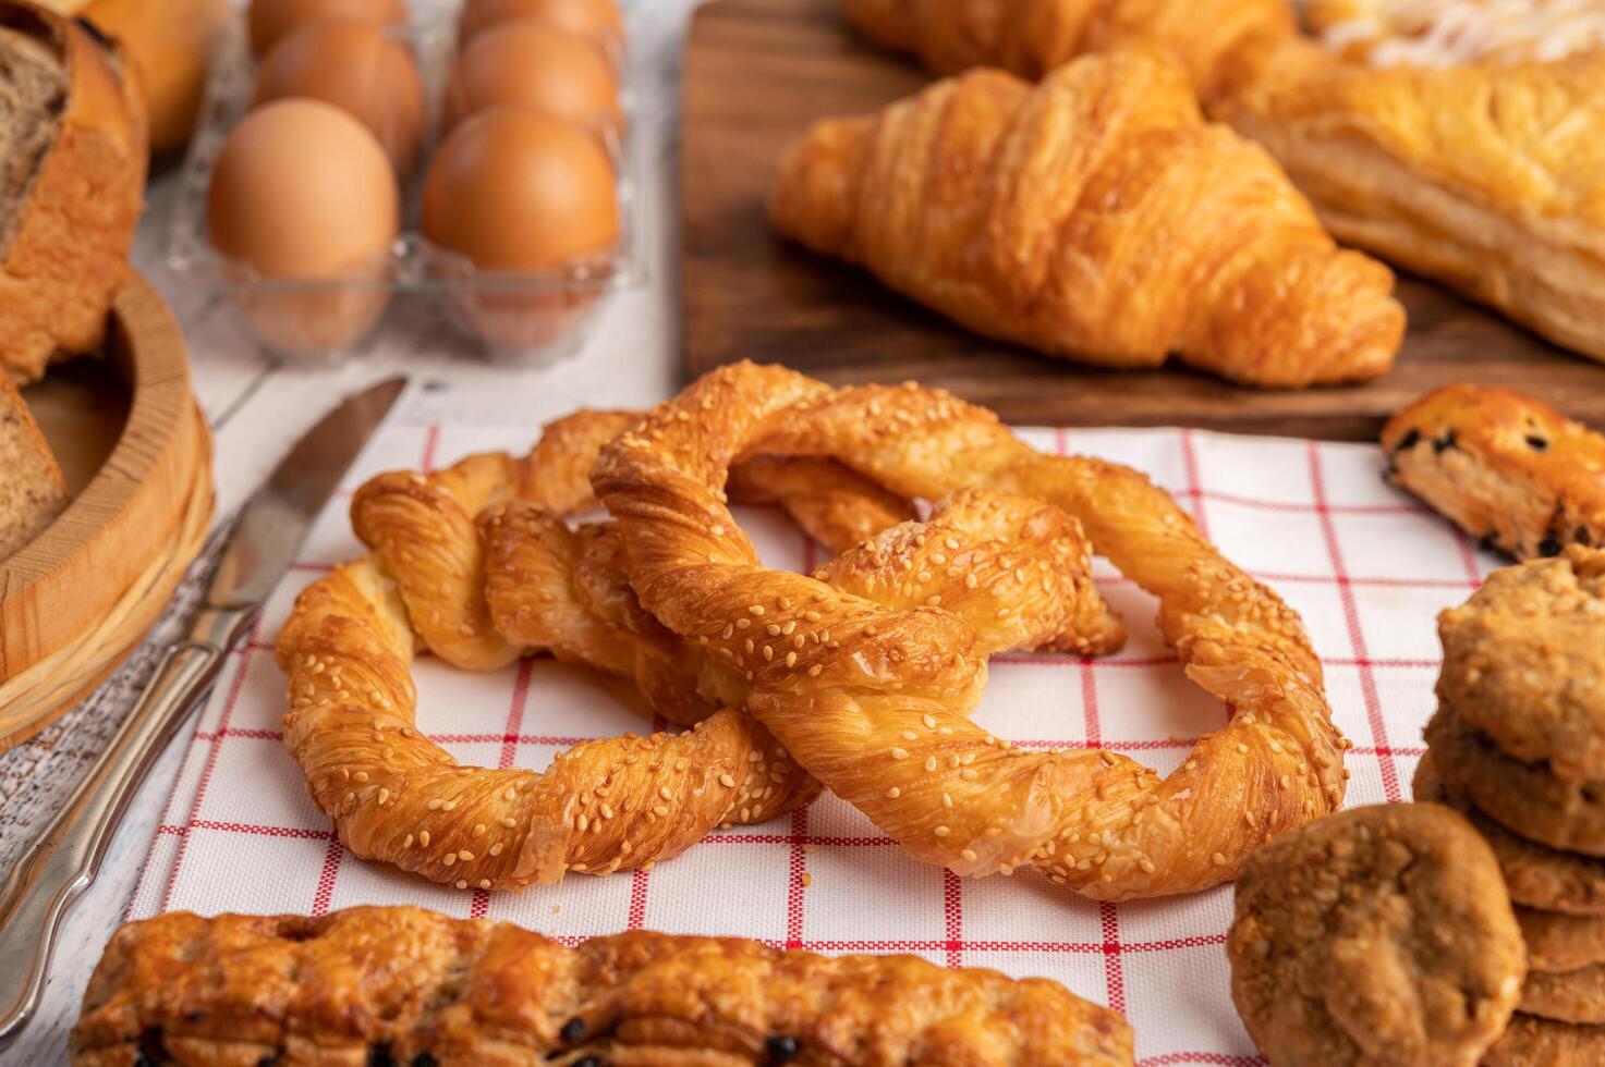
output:
[[[265,276],[215,249],[207,236],[207,196],[218,152],[249,114],[258,61],[242,14],[226,27],[212,58],[202,119],[178,173],[178,196],[167,231],[173,276],[231,308],[239,327],[286,361],[340,363],[382,343],[382,327],[406,308],[445,318],[465,351],[498,363],[544,366],[576,355],[607,297],[647,278],[642,229],[639,138],[631,64],[623,42],[600,42],[618,79],[623,122],[597,124],[613,164],[618,239],[602,252],[557,270],[478,270],[472,260],[427,241],[419,226],[429,160],[443,140],[441,112],[453,61],[451,13],[414,16],[387,30],[417,64],[424,87],[422,149],[400,175],[401,229],[360,270],[340,276]],[[409,319],[411,323],[411,319]]]

